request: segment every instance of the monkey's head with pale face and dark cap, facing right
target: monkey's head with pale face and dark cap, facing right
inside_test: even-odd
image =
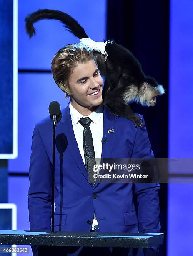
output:
[[[143,106],[153,107],[156,98],[164,93],[162,85],[158,84],[153,77],[145,77],[138,89],[137,101]]]

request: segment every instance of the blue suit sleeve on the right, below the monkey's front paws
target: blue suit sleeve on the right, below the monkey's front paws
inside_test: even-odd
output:
[[[142,117],[142,116],[141,116]],[[143,118],[143,117],[142,117]],[[137,127],[132,158],[153,158],[153,151],[143,119],[143,128]],[[135,183],[138,202],[139,232],[160,232],[158,183]]]

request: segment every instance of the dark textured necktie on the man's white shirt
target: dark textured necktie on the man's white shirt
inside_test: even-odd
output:
[[[84,147],[84,156],[85,156],[85,167],[87,169],[90,182],[93,184],[93,187],[94,187],[97,179],[94,178],[94,174],[95,174],[94,164],[96,164],[96,161],[95,161],[95,151],[93,146],[93,137],[89,127],[92,120],[86,117],[86,118],[80,118],[79,122],[84,127],[83,147]]]

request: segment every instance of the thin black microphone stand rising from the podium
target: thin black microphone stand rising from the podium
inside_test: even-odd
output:
[[[56,115],[53,115],[53,137],[52,137],[52,225],[51,233],[54,233],[54,188],[55,188],[55,128],[57,125]]]

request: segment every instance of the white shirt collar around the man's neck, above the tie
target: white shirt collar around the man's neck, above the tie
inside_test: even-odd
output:
[[[93,111],[92,113],[90,113],[90,115],[82,115],[80,112],[78,112],[78,110],[76,110],[73,105],[69,104],[69,108],[70,108],[70,115],[71,115],[71,119],[74,123],[74,125],[76,125],[78,123],[78,121],[80,120],[80,118],[82,117],[86,117],[88,116],[94,123],[99,123],[100,118],[103,115],[103,103],[101,103],[98,108],[95,109],[95,111]]]

